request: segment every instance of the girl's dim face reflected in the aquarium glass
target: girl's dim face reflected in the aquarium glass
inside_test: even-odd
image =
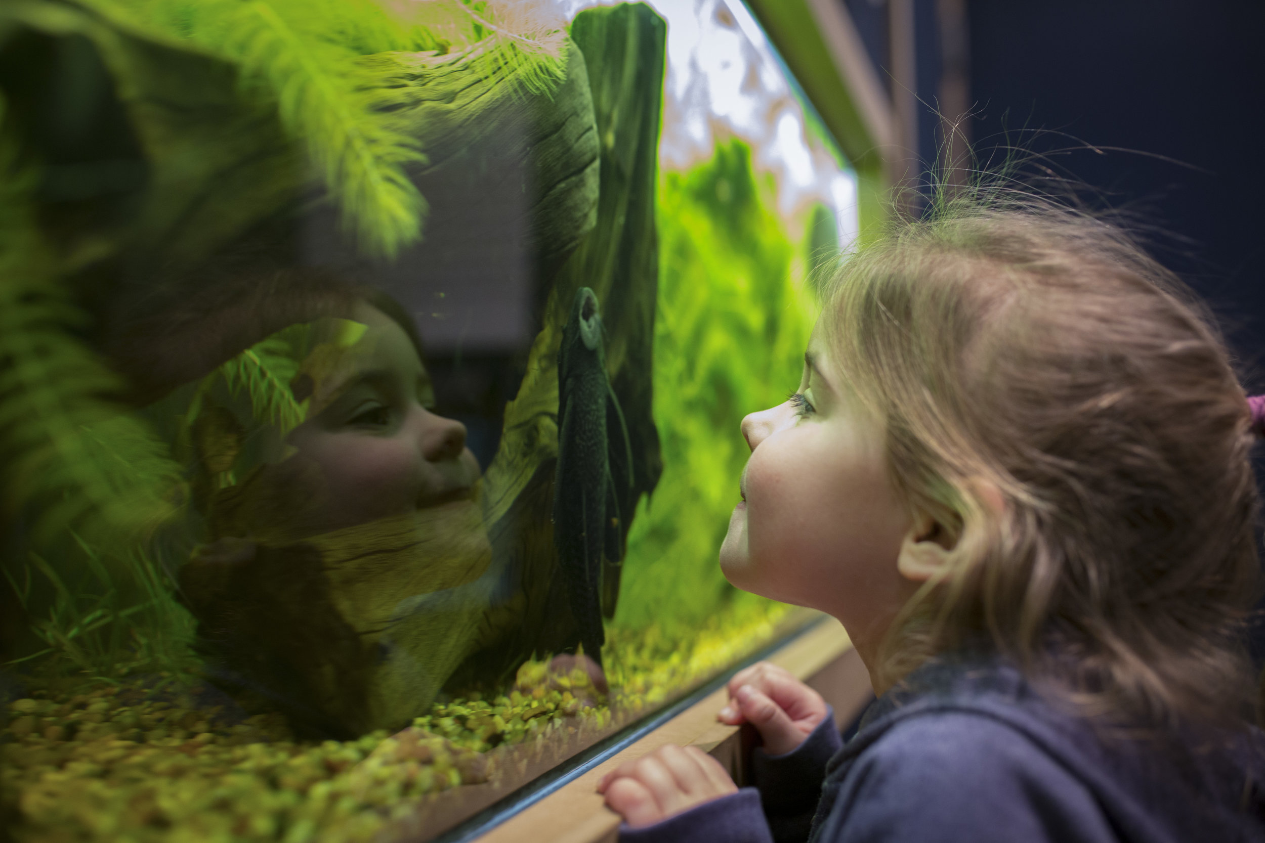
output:
[[[430,377],[407,334],[368,305],[368,331],[318,391],[334,398],[291,431],[288,470],[320,489],[301,521],[328,532],[417,509],[477,506],[479,469],[466,427],[433,411]]]

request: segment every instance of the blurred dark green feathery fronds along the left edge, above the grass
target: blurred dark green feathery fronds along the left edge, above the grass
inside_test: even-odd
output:
[[[0,101],[0,133],[5,126]],[[75,526],[138,536],[176,508],[167,447],[111,406],[121,382],[73,331],[85,322],[33,219],[34,173],[0,134],[0,478],[37,541]]]

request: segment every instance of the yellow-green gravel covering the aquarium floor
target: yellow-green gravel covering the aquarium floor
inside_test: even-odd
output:
[[[516,787],[528,756],[621,728],[768,641],[784,617],[721,618],[688,642],[612,629],[610,694],[583,670],[529,661],[503,693],[357,741],[296,741],[280,714],[225,727],[215,709],[144,700],[126,682],[34,690],[8,703],[0,820],[19,843],[392,839],[419,800],[490,780]]]

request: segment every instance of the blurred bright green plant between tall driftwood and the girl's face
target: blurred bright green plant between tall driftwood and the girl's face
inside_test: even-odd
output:
[[[746,144],[662,173],[658,202],[654,418],[664,471],[632,522],[616,623],[688,629],[730,602],[768,608],[725,581],[716,555],[746,463],[739,425],[798,382],[815,305]]]

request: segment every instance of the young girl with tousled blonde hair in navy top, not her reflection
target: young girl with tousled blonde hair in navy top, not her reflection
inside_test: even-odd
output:
[[[739,672],[758,790],[667,747],[601,782],[622,840],[1265,839],[1251,415],[1122,231],[1030,198],[904,224],[743,435],[725,575],[839,618],[880,696],[840,748],[816,693]]]

